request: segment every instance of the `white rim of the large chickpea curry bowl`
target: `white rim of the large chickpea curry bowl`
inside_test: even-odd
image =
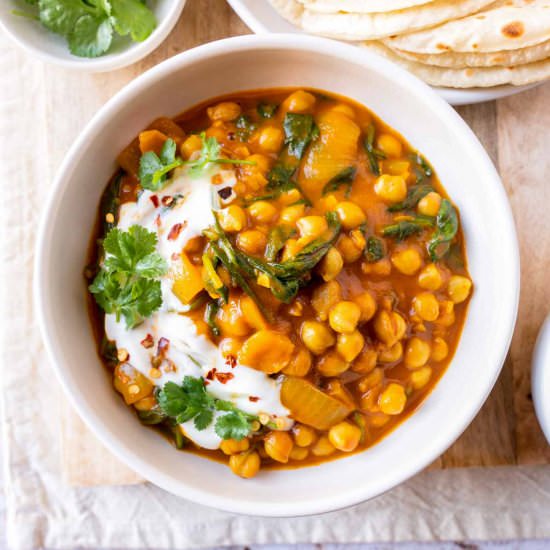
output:
[[[494,357],[491,358],[491,361],[488,361],[488,363],[492,365],[493,370],[491,371],[492,376],[488,376],[485,379],[485,384],[479,390],[479,394],[483,394],[483,398],[479,399],[477,402],[470,403],[469,406],[465,406],[461,411],[462,414],[456,414],[453,416],[452,419],[449,420],[449,424],[452,424],[452,426],[445,430],[445,435],[441,436],[439,434],[434,434],[434,443],[429,448],[418,451],[414,457],[409,457],[407,464],[402,468],[398,475],[392,477],[391,480],[386,479],[383,482],[376,482],[369,487],[358,487],[358,489],[353,493],[346,493],[345,495],[340,495],[338,497],[328,495],[326,498],[318,499],[315,502],[310,501],[307,504],[303,502],[286,502],[284,506],[281,504],[273,504],[269,501],[255,501],[253,503],[248,501],[239,501],[237,499],[215,495],[209,491],[188,487],[183,481],[180,482],[179,486],[174,486],[173,480],[163,474],[163,472],[160,471],[160,468],[152,466],[150,463],[137,458],[132,454],[132,450],[130,448],[127,448],[121,444],[110,431],[109,427],[105,426],[95,418],[94,410],[86,403],[77,399],[77,395],[80,393],[77,385],[71,384],[64,377],[64,367],[62,366],[61,354],[57,351],[56,346],[49,337],[47,322],[48,312],[46,307],[47,300],[45,297],[47,288],[45,286],[44,278],[41,276],[41,273],[43,273],[41,266],[47,261],[48,256],[48,251],[46,249],[50,233],[48,222],[51,219],[52,214],[55,212],[56,196],[70,185],[72,180],[65,178],[64,174],[72,165],[73,157],[77,155],[77,152],[82,147],[86,146],[86,143],[90,140],[90,138],[93,138],[95,126],[101,125],[102,121],[109,119],[112,115],[116,114],[119,107],[124,105],[128,100],[131,100],[134,95],[139,94],[140,90],[147,88],[157,79],[170,74],[174,70],[181,70],[185,66],[202,59],[227,53],[228,50],[239,52],[253,51],[256,48],[283,50],[300,49],[308,52],[316,52],[320,55],[326,53],[331,56],[338,55],[346,59],[351,58],[360,65],[368,64],[370,68],[379,70],[386,75],[391,75],[393,73],[395,75],[395,79],[405,82],[411,93],[425,96],[425,100],[430,102],[430,107],[433,109],[434,115],[442,117],[448,124],[453,125],[457,132],[462,133],[463,138],[468,139],[468,142],[472,148],[471,152],[479,157],[479,161],[482,162],[487,171],[488,178],[490,176],[491,179],[490,181],[488,179],[487,185],[492,186],[491,191],[494,194],[495,200],[498,201],[498,206],[496,207],[502,209],[502,212],[505,213],[510,222],[507,227],[501,228],[502,238],[506,239],[509,243],[510,258],[515,265],[513,272],[508,273],[511,286],[514,289],[513,297],[511,297],[510,303],[506,309],[506,325],[508,329],[506,335],[503,335],[502,348],[500,350],[495,350]],[[128,464],[129,467],[135,470],[142,477],[165,489],[166,491],[205,506],[255,516],[304,516],[346,508],[388,491],[429,465],[460,436],[487,399],[500,374],[502,365],[506,358],[512,339],[519,303],[519,247],[510,204],[495,167],[469,126],[456,113],[456,111],[443,99],[441,99],[428,85],[400,67],[397,67],[396,65],[381,58],[380,56],[372,54],[371,52],[359,51],[357,48],[341,42],[309,35],[244,35],[218,40],[178,54],[153,67],[152,69],[149,69],[125,86],[94,115],[92,120],[86,125],[85,129],[81,132],[80,136],[76,139],[69,152],[66,154],[65,159],[57,172],[57,176],[50,191],[49,200],[47,201],[46,207],[42,214],[38,231],[36,251],[34,265],[34,297],[37,309],[38,324],[45,343],[45,348],[57,378],[64,388],[66,395],[91,431],[122,462]]]

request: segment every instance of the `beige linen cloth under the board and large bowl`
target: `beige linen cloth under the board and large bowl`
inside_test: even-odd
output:
[[[59,135],[76,135],[79,127],[70,118],[70,107],[80,98],[64,95],[55,105],[66,104],[67,109],[53,108],[47,103],[51,90],[44,93],[43,71],[42,64],[0,36],[0,404],[10,548],[186,549],[550,537],[549,467],[423,473],[368,503],[288,519],[220,512],[147,483],[93,488],[65,483],[58,444],[64,397],[35,322],[32,261],[36,224],[51,182],[50,160],[60,158],[56,136],[46,134],[44,122],[48,117]],[[69,419],[76,422],[72,415]],[[78,424],[65,426],[67,432],[82,429]],[[90,453],[95,460],[96,443],[91,440]],[[106,481],[126,475],[110,459],[107,462]],[[90,481],[88,477],[79,483]]]

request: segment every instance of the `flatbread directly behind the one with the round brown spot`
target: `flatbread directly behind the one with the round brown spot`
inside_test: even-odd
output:
[[[374,14],[328,14],[305,9],[301,25],[307,32],[331,38],[372,40],[439,25],[476,13],[491,3],[492,0],[435,0],[413,8]]]

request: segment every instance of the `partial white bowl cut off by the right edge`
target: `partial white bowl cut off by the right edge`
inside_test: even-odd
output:
[[[533,350],[531,394],[540,427],[550,445],[550,315],[540,328]]]

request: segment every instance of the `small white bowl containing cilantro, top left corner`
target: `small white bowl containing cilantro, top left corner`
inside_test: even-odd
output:
[[[38,21],[14,15],[12,10],[31,11],[23,0],[4,0],[0,7],[0,29],[18,46],[31,55],[67,69],[86,72],[113,71],[131,65],[151,53],[168,36],[177,23],[186,0],[156,0],[151,9],[157,26],[143,42],[132,42],[129,37],[117,37],[111,50],[95,58],[77,57],[69,52],[64,37],[59,36]]]

